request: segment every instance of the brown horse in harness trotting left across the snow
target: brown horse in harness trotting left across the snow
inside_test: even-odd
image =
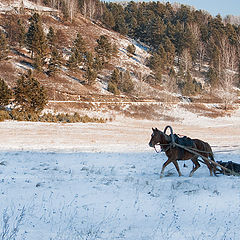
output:
[[[194,167],[189,174],[189,176],[191,177],[193,173],[200,167],[200,164],[198,162],[198,155],[190,153],[187,150],[181,149],[179,147],[171,146],[172,138],[170,135],[165,134],[164,132],[158,130],[157,128],[152,130],[153,130],[153,133],[151,135],[149,146],[155,148],[155,146],[159,144],[161,146],[162,151],[164,151],[168,157],[167,161],[162,166],[160,178],[163,177],[165,167],[171,162],[176,167],[179,176],[182,176],[177,161],[190,160],[190,159],[194,163]],[[211,157],[211,159],[213,159],[212,149],[210,145],[206,142],[203,142],[202,140],[193,139],[193,146],[191,147],[191,149],[201,155],[204,155],[204,157]],[[215,173],[215,168],[206,159],[203,159],[203,161],[207,165],[210,171],[210,175],[212,176],[212,170],[214,169],[214,173]]]

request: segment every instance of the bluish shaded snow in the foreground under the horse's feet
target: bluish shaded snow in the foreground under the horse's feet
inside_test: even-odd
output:
[[[1,152],[1,212],[16,239],[238,239],[240,179],[177,177],[163,155]],[[239,152],[216,155],[237,161]],[[18,219],[18,217],[17,217]],[[1,222],[3,225],[4,222]]]

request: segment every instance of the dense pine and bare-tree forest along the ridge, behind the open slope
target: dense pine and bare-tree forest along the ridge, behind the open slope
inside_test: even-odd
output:
[[[43,0],[51,7],[61,2]],[[159,1],[70,0],[67,12],[71,4],[85,17],[150,46],[147,64],[157,83],[167,75],[183,94],[193,94],[201,91],[193,73],[202,73],[212,89],[220,86],[230,91],[240,85],[239,17],[222,19],[187,5]]]

